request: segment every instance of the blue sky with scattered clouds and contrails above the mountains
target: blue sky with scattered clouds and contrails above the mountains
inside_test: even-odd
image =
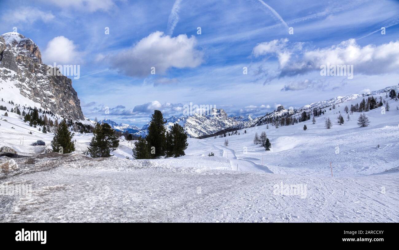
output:
[[[398,1],[3,0],[1,6],[0,33],[16,27],[38,44],[43,62],[80,65],[73,87],[90,119],[140,126],[154,109],[180,116],[190,102],[256,117],[280,104],[301,107],[399,83]],[[321,76],[326,63],[354,65],[353,79]]]

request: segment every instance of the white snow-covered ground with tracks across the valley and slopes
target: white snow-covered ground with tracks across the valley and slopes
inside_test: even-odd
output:
[[[0,121],[0,146],[30,157],[14,159],[18,169],[2,170],[0,184],[32,185],[32,195],[0,195],[0,221],[398,222],[399,102],[389,100],[385,114],[366,112],[370,125],[359,128],[359,113],[347,121],[344,107],[360,100],[326,108],[316,124],[188,139],[186,156],[157,160],[132,160],[134,142],[122,139],[114,157],[89,158],[81,152],[91,134],[75,135],[73,154],[37,155],[45,147],[28,144],[49,145],[52,134],[8,112],[1,118],[25,128]],[[327,117],[332,129],[324,127]],[[252,142],[262,131],[271,151]]]

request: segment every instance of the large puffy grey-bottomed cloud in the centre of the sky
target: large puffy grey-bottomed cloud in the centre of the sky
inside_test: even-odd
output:
[[[196,45],[194,36],[171,37],[156,31],[111,57],[111,64],[129,76],[146,76],[151,67],[155,67],[156,74],[164,74],[171,67],[194,68],[203,62],[203,53],[195,49]]]

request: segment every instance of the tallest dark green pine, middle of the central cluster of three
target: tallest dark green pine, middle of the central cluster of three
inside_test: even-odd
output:
[[[151,154],[151,158],[159,158],[165,155],[165,143],[166,143],[166,129],[164,124],[164,117],[159,110],[154,110],[154,114],[152,114],[152,119],[150,121],[150,126],[148,126],[148,135],[146,140],[149,144],[149,147],[155,148],[155,154]]]

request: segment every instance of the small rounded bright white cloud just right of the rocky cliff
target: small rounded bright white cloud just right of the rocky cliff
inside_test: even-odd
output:
[[[72,40],[64,36],[54,37],[47,43],[43,52],[44,62],[53,65],[57,64],[80,64],[81,53],[76,50]]]

